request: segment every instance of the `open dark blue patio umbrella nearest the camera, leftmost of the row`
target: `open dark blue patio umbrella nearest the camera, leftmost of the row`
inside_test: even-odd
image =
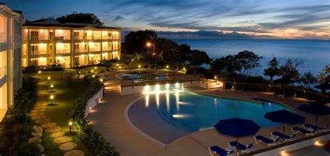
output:
[[[222,135],[235,137],[237,142],[237,148],[239,137],[256,135],[256,133],[260,129],[260,126],[252,120],[233,118],[220,120],[217,124],[214,125],[214,128]]]

